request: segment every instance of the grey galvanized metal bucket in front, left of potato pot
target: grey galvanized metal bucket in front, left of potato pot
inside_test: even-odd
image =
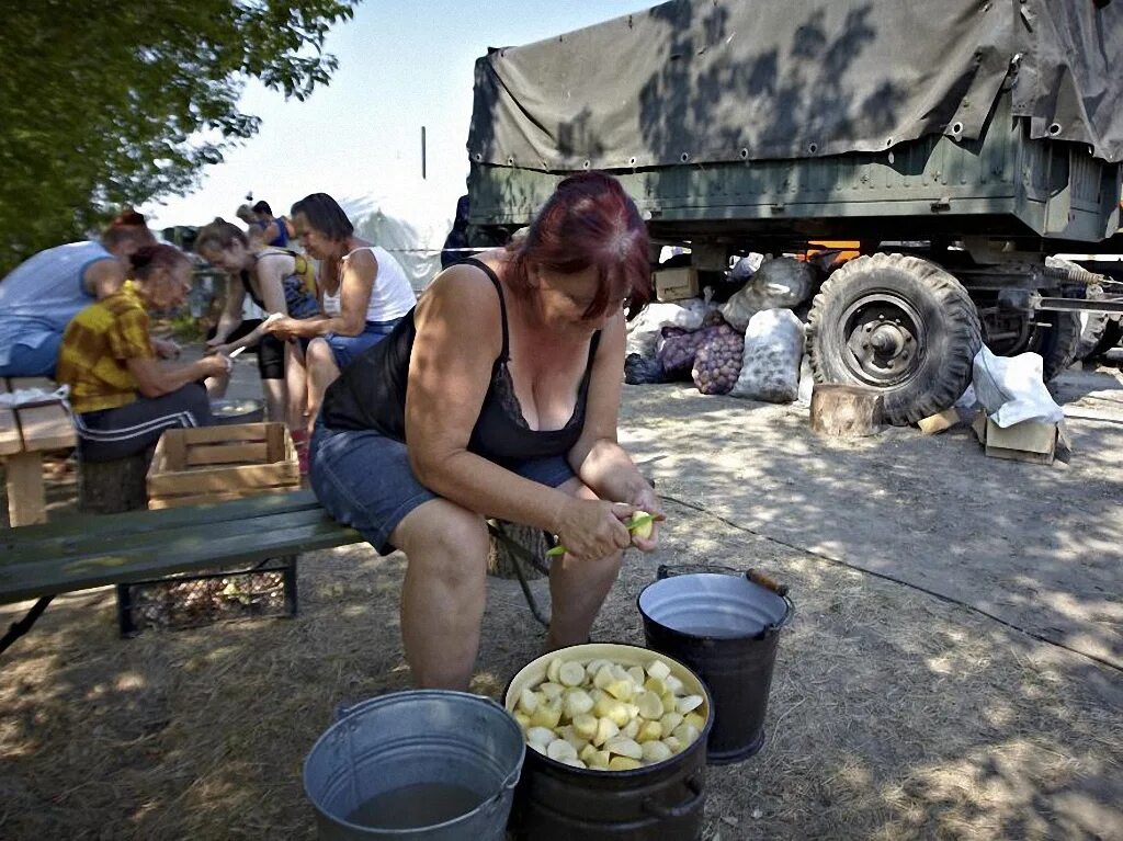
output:
[[[398,692],[340,712],[304,760],[304,792],[325,841],[503,841],[524,753],[518,723],[490,698]],[[478,805],[431,825],[348,820],[372,799],[421,785],[468,789]]]

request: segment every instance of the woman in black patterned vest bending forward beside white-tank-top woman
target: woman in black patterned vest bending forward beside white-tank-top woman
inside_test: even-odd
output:
[[[310,318],[320,311],[304,277],[307,258],[281,248],[254,248],[246,234],[225,219],[216,219],[199,229],[195,253],[230,278],[226,307],[219,317],[214,337],[207,342],[214,354],[232,354],[240,347],[257,346],[257,367],[262,375],[270,420],[284,421],[293,431],[304,430],[303,386],[296,394],[285,388],[284,342],[272,336],[264,322],[241,327],[246,295],[265,312],[280,317]],[[237,280],[235,280],[237,278]],[[226,380],[211,383],[214,396],[226,390]],[[298,401],[298,402],[294,402]]]

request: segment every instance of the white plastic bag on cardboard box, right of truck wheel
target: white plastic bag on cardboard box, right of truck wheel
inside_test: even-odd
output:
[[[1046,388],[1041,356],[995,356],[986,346],[975,355],[971,384],[987,417],[1005,429],[1026,420],[1058,423],[1065,411]]]

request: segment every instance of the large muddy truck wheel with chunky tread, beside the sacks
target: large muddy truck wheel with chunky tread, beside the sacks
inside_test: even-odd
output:
[[[962,284],[900,254],[858,257],[836,271],[815,295],[809,338],[815,381],[880,388],[885,420],[896,426],[955,403],[983,346]]]

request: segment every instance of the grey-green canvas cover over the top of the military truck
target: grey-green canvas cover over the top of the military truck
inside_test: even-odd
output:
[[[548,172],[976,139],[1123,159],[1123,0],[675,0],[476,62],[474,164]]]

